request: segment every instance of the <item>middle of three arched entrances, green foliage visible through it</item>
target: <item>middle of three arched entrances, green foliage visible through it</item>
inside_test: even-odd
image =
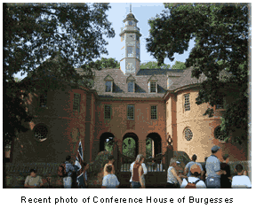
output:
[[[126,133],[123,137],[123,155],[136,158],[138,155],[139,138],[134,133]]]

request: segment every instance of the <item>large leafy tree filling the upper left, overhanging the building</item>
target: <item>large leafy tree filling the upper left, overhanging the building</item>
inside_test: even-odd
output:
[[[84,79],[92,72],[85,65],[98,68],[92,59],[108,54],[103,35],[115,36],[106,15],[109,8],[109,4],[4,4],[4,145],[28,130],[24,123],[33,118],[26,111],[28,93],[40,93],[45,86],[64,88],[63,81],[88,84]],[[76,73],[80,66],[84,75]],[[15,81],[18,72],[28,73],[28,78]],[[35,89],[38,81],[49,85]]]

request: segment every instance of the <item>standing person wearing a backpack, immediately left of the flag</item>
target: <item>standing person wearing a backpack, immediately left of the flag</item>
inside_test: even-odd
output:
[[[59,166],[58,174],[63,177],[64,189],[71,189],[72,187],[72,174],[75,172],[75,167],[70,163],[71,157],[66,157],[66,162]]]

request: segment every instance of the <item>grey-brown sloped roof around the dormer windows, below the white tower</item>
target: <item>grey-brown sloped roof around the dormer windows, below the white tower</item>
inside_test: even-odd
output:
[[[202,74],[199,79],[192,78],[192,67],[186,70],[180,69],[140,69],[140,71],[131,76],[131,74],[124,74],[119,68],[105,68],[100,71],[93,70],[94,85],[92,89],[97,91],[100,98],[156,98],[164,97],[164,94],[169,90],[180,89],[182,87],[199,84],[206,80],[206,76]],[[230,76],[227,72],[220,73],[220,79],[223,76]],[[105,92],[106,77],[113,79],[113,92]],[[168,77],[175,78],[172,85],[167,89]],[[128,92],[127,80],[135,80],[135,92]],[[157,80],[157,93],[148,93],[148,81],[154,78]]]

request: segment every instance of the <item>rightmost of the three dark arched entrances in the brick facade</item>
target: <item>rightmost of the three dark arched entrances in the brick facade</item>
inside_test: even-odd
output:
[[[155,158],[156,155],[162,153],[162,139],[161,136],[158,135],[157,133],[150,133],[147,135],[146,138],[146,152],[147,156],[150,157],[150,152],[151,152],[151,157]]]

